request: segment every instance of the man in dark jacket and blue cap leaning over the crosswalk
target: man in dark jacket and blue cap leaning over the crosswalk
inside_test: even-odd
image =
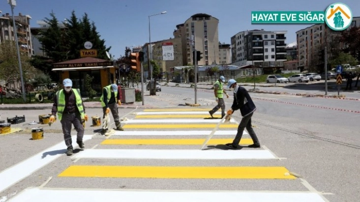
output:
[[[244,129],[246,128],[246,130],[249,132],[251,139],[254,142],[254,144],[249,145],[248,147],[260,148],[259,140],[257,139],[251,125],[251,117],[256,110],[256,106],[253,100],[251,99],[248,91],[245,88],[240,87],[236,84],[236,80],[230,79],[227,83],[227,87],[234,91],[234,101],[231,108],[227,111],[225,119],[229,119],[231,114],[237,109],[240,109],[243,119],[237,127],[237,133],[234,140],[232,141],[232,143],[226,144],[226,146],[230,148],[237,148],[243,136]]]

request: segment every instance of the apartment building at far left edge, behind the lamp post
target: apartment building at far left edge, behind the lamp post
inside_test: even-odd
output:
[[[31,57],[33,48],[30,32],[30,19],[32,18],[29,15],[22,15],[19,13],[18,16],[14,16],[14,19],[20,53]],[[7,40],[15,41],[13,19],[9,13],[0,17],[0,43]]]

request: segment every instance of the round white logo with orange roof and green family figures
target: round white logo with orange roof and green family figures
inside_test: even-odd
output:
[[[325,11],[325,22],[333,30],[344,30],[350,26],[351,21],[351,10],[343,3],[332,4]]]

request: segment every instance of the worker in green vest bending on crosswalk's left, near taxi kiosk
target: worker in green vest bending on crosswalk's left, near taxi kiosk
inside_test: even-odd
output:
[[[116,130],[124,131],[121,127],[120,118],[117,110],[117,105],[121,106],[122,94],[121,87],[116,84],[111,84],[103,88],[103,95],[100,98],[101,106],[103,107],[103,118],[111,110],[112,117],[114,118]],[[106,133],[108,129],[103,129],[102,133]]]

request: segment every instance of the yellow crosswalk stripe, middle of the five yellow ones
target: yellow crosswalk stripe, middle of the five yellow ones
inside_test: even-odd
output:
[[[194,129],[194,128],[215,128],[216,124],[126,124],[124,129]],[[237,128],[237,124],[222,124],[219,128]]]

